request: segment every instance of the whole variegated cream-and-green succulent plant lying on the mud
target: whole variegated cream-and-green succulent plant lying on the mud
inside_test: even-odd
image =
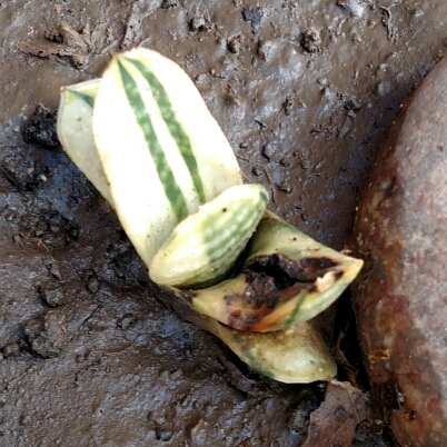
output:
[[[335,375],[311,319],[362,261],[266,210],[266,189],[242,183],[231,147],[175,62],[136,49],[115,56],[101,79],[62,88],[58,135],[187,319],[279,381]]]

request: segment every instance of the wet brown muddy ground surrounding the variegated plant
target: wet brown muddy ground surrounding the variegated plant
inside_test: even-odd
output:
[[[270,209],[341,249],[393,120],[447,52],[446,17],[445,0],[1,2],[0,446],[295,447],[325,393],[261,378],[159,299],[37,103],[157,49]]]

